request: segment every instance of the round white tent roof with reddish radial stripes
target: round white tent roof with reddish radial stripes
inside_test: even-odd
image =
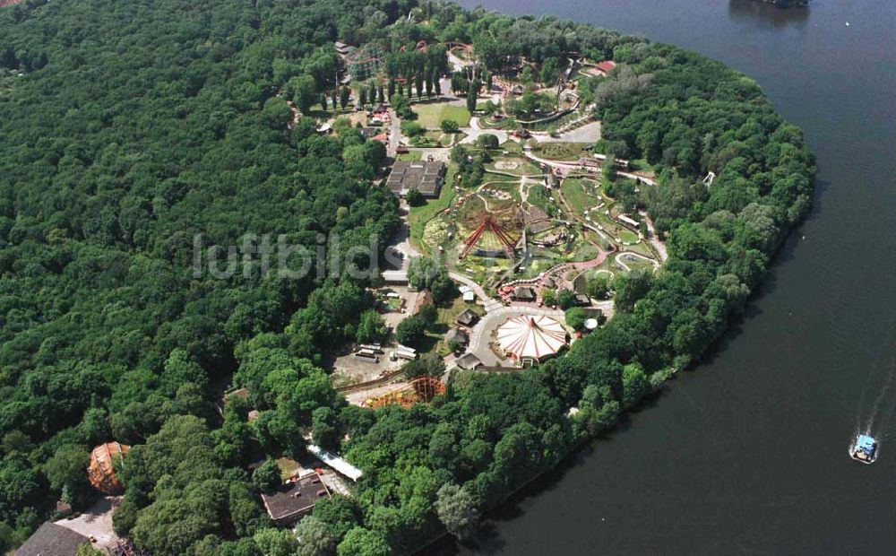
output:
[[[522,315],[507,319],[497,330],[498,345],[515,360],[541,360],[566,345],[566,329],[556,319]]]

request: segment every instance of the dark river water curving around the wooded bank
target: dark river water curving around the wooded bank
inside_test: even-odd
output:
[[[806,131],[819,187],[701,365],[499,508],[473,543],[428,552],[896,553],[896,2],[485,7],[643,34],[753,76]],[[847,448],[869,421],[881,456],[860,465]]]

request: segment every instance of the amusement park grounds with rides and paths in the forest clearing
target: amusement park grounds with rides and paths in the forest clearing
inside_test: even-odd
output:
[[[352,123],[383,126],[366,135],[394,161],[383,183],[403,211],[390,247],[401,263],[373,292],[392,336],[333,361],[350,403],[428,403],[458,372],[546,361],[612,317],[617,277],[652,273],[665,260],[642,209],[657,187],[652,169],[617,156],[595,116],[596,83],[624,67],[571,53],[553,68],[513,56],[495,69],[459,42],[336,49],[357,102]],[[433,83],[401,70],[413,56],[442,53],[448,67]],[[388,101],[375,92],[383,83]],[[436,282],[451,284],[448,299],[434,303],[434,284],[410,275],[419,258],[442,269]],[[398,337],[426,318],[416,343]],[[404,370],[423,358],[439,360],[427,376]]]

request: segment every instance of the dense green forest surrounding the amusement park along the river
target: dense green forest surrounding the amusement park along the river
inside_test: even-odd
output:
[[[632,202],[668,237],[667,264],[621,284],[616,317],[563,358],[461,375],[409,410],[347,405],[321,365],[372,307],[365,281],[216,280],[191,265],[197,234],[203,247],[338,234],[340,256],[371,235],[382,247],[398,225],[396,201],[369,181],[382,145],[317,135],[290,109],[332,94],[335,39],[387,52],[467,42],[495,72],[511,56],[616,60],[584,94],[607,152],[661,170]],[[445,69],[441,57],[388,64]],[[90,503],[84,465],[109,439],[134,445],[116,530],[153,554],[385,554],[462,536],[699,358],[814,185],[800,131],[744,75],[611,31],[439,1],[31,0],[0,10],[0,68],[24,73],[0,90],[3,548],[56,500]],[[251,396],[220,417],[228,382]],[[271,528],[247,465],[301,450],[305,428],[365,477],[355,497],[318,504],[299,542]]]

